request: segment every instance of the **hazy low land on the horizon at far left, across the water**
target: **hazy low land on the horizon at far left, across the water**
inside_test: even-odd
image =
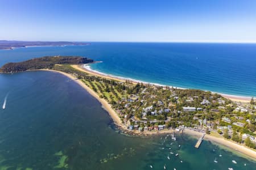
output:
[[[8,41],[0,40],[0,49],[12,49],[26,46],[62,46],[62,45],[88,45],[87,42],[69,41]]]

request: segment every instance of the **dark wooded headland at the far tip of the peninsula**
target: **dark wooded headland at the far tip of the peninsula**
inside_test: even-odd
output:
[[[16,73],[35,69],[52,69],[55,64],[82,64],[91,63],[93,59],[79,56],[46,56],[33,58],[23,62],[6,63],[0,68],[1,73]]]

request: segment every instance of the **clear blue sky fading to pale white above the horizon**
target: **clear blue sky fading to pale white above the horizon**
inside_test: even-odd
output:
[[[0,0],[0,40],[256,42],[256,1]]]

